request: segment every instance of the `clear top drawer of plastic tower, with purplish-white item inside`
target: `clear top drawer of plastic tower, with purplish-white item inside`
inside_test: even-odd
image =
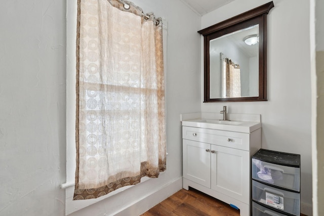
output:
[[[252,158],[252,178],[274,186],[300,191],[300,169]]]

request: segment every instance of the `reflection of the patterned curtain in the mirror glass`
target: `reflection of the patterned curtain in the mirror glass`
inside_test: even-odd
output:
[[[240,97],[241,79],[239,65],[226,58],[223,60],[223,73],[223,97]]]

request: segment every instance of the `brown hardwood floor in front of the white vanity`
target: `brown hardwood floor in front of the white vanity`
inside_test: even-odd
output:
[[[239,210],[195,189],[181,189],[141,216],[239,216]],[[306,216],[301,214],[301,216]]]

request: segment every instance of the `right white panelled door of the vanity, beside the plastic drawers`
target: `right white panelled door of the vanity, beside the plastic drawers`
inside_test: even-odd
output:
[[[249,204],[249,151],[218,145],[212,145],[211,150],[211,188]]]

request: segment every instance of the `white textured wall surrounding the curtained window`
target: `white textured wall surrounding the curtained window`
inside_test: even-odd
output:
[[[2,2],[0,215],[64,215],[65,2]],[[200,17],[179,0],[133,2],[168,21],[167,171],[71,215],[109,215],[182,176],[180,114],[199,111],[201,102]]]

